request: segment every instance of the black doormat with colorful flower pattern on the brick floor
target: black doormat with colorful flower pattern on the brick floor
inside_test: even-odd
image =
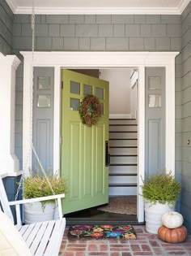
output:
[[[69,240],[136,239],[131,225],[77,225],[68,230]]]

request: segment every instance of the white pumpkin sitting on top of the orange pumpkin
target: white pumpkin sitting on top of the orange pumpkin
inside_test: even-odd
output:
[[[179,228],[183,221],[182,215],[176,211],[169,211],[162,216],[163,226],[167,228]]]

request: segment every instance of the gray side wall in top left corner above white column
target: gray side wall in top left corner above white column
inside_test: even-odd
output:
[[[13,12],[6,4],[0,0],[0,52],[11,54],[13,33]]]

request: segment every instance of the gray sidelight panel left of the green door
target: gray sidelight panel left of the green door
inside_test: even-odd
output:
[[[54,68],[34,67],[32,140],[42,166],[53,174]],[[32,155],[32,170],[39,169]]]

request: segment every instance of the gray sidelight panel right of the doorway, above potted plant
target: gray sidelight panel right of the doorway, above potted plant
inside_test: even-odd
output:
[[[146,175],[165,169],[165,67],[146,67]]]

